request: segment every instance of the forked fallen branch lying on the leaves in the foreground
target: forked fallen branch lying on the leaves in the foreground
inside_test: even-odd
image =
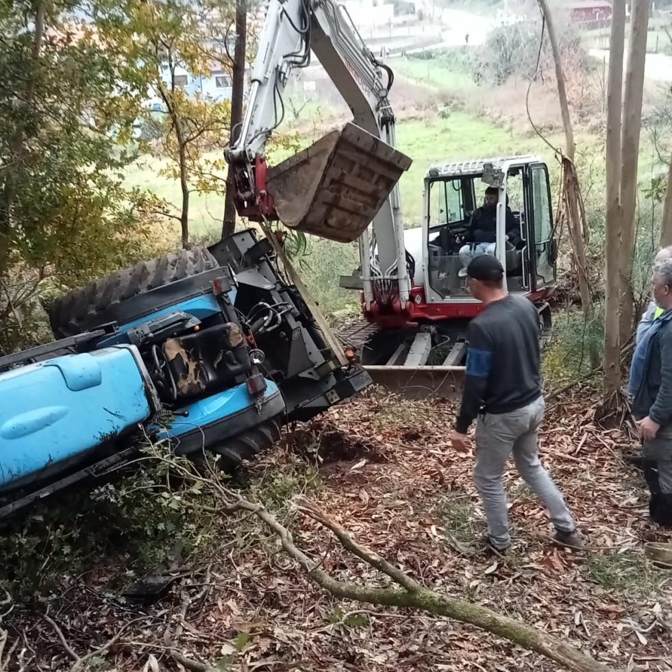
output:
[[[440,595],[435,590],[425,588],[384,558],[357,543],[343,527],[327,517],[314,504],[301,500],[297,503],[299,512],[321,523],[338,538],[345,549],[360,560],[364,560],[371,567],[386,574],[401,588],[360,586],[353,582],[336,580],[295,545],[291,532],[280,524],[264,506],[240,497],[238,493],[234,493],[222,484],[218,484],[215,489],[219,494],[226,496],[225,509],[227,512],[243,510],[256,514],[277,535],[285,553],[299,564],[310,580],[336,597],[369,604],[418,609],[430,614],[455,619],[462,623],[471,623],[471,625],[504,637],[525,649],[536,651],[536,653],[550,658],[573,672],[612,672],[612,668],[606,667],[588,654],[584,654],[579,649],[538,630],[536,627],[526,625],[521,621],[473,602]]]

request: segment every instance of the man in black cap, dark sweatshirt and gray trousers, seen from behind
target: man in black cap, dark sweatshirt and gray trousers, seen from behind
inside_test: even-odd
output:
[[[545,403],[536,308],[506,293],[496,257],[476,257],[467,277],[473,297],[485,308],[469,323],[462,406],[451,440],[454,448],[466,451],[466,432],[478,417],[473,478],[488,520],[488,543],[497,551],[511,545],[502,475],[513,453],[520,475],[550,511],[553,538],[581,548],[571,513],[537,452]]]

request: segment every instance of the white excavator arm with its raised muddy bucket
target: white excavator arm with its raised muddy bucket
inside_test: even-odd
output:
[[[296,68],[312,53],[343,96],[353,123],[278,166],[264,148],[282,123],[282,95]],[[348,242],[360,238],[364,301],[399,301],[412,273],[403,245],[397,181],[410,159],[395,149],[395,117],[388,101],[392,71],[378,62],[333,0],[271,0],[251,73],[245,119],[226,152],[234,166],[238,214],[279,219],[306,233]],[[373,236],[369,223],[373,220]],[[412,262],[411,262],[412,265]]]

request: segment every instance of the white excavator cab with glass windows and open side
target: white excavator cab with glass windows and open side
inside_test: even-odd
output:
[[[498,193],[496,211],[480,209]],[[429,303],[469,300],[464,272],[478,253],[495,254],[506,269],[508,290],[547,294],[556,282],[556,242],[548,170],[531,157],[498,158],[435,166],[425,177],[421,229],[406,232],[416,260],[414,285]],[[495,230],[484,231],[495,222]]]

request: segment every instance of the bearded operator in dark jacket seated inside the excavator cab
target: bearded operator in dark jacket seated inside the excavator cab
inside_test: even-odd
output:
[[[474,257],[480,254],[495,254],[497,241],[497,202],[499,190],[488,187],[483,205],[473,211],[469,225],[466,227],[465,245],[460,247],[462,269],[458,275],[466,276],[466,267]],[[506,240],[514,247],[522,244],[521,229],[509,208],[509,197],[506,197]]]

